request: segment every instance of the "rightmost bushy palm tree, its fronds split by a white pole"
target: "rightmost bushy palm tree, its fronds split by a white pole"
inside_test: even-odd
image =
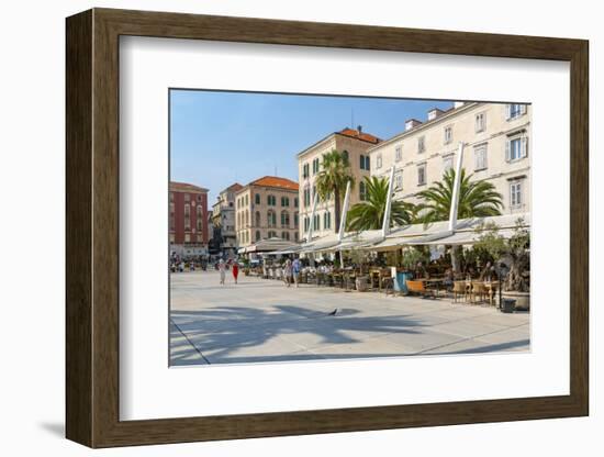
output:
[[[488,181],[471,181],[461,169],[459,186],[458,219],[500,215],[503,209],[502,194]],[[449,168],[443,180],[417,193],[422,202],[417,205],[417,220],[424,224],[449,219],[455,187],[455,170]]]

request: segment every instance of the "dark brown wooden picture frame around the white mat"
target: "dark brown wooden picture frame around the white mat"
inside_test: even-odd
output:
[[[264,19],[93,9],[67,19],[66,435],[90,447],[371,431],[589,413],[589,44]],[[121,35],[550,59],[570,63],[570,394],[120,421]]]

